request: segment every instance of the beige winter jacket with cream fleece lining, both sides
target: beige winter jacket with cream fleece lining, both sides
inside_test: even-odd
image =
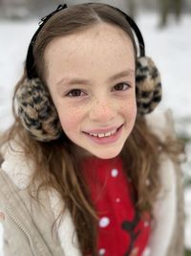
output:
[[[170,110],[148,115],[147,122],[161,139],[174,134]],[[26,161],[22,151],[11,149],[4,152],[4,159],[0,171],[0,211],[5,216],[2,220],[4,256],[80,256],[69,211],[52,238],[53,221],[63,206],[59,195],[53,190],[41,191],[44,206],[39,205],[27,192],[32,163]],[[154,208],[156,226],[142,256],[183,256],[180,166],[164,154],[160,163],[162,189]]]

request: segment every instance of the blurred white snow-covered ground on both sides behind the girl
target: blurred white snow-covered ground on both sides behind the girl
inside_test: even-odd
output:
[[[183,15],[180,24],[171,18],[168,27],[162,30],[158,27],[157,14],[138,15],[137,21],[144,36],[147,56],[154,58],[161,73],[163,101],[158,110],[172,108],[177,131],[191,137],[191,15]],[[22,74],[37,22],[0,21],[0,131],[11,125],[12,89]],[[187,148],[190,152],[189,149],[190,146]],[[188,160],[189,164],[185,164],[183,170],[186,176],[191,176],[190,154]],[[191,189],[185,190],[185,202],[185,245],[191,248]]]

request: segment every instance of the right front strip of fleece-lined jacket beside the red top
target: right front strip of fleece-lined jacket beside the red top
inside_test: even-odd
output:
[[[180,168],[162,155],[159,168],[161,190],[154,204],[151,255],[183,256],[183,182]]]

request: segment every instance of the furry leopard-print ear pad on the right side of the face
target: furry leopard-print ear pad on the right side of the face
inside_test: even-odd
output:
[[[137,58],[136,96],[139,115],[152,112],[161,101],[159,70],[151,58]]]

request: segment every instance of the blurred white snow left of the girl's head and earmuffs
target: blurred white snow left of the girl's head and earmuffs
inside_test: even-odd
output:
[[[11,96],[14,84],[22,75],[28,44],[35,30],[36,21],[0,22],[0,130],[11,125]]]

